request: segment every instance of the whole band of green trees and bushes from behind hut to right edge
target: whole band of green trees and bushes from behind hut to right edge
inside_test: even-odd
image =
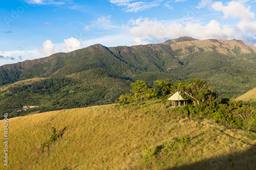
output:
[[[142,104],[142,100],[161,98],[167,100],[175,92],[180,91],[184,99],[191,102],[178,109],[191,117],[210,117],[217,122],[226,123],[244,130],[256,131],[256,109],[250,104],[241,103],[234,99],[219,99],[218,93],[210,83],[201,79],[190,79],[185,82],[158,80],[156,88],[148,87],[145,82],[137,80],[133,83],[132,93],[121,95],[119,104]]]

